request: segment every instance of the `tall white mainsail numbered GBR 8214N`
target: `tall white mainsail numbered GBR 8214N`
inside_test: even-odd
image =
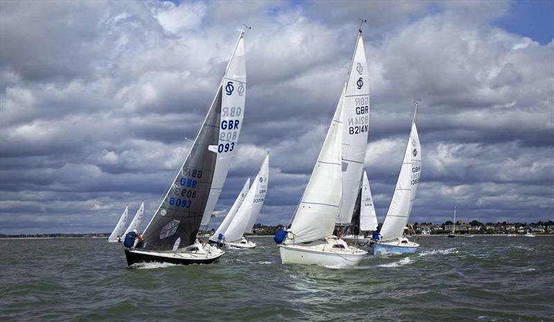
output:
[[[342,202],[337,224],[350,224],[364,171],[369,129],[369,77],[361,31],[343,96]]]

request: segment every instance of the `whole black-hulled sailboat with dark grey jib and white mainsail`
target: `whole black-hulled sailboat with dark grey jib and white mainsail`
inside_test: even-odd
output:
[[[199,242],[197,233],[213,195],[213,184],[225,180],[228,169],[224,168],[237,147],[245,94],[244,33],[241,33],[202,127],[143,233],[143,247],[125,249],[127,265],[208,264],[225,253],[207,242]]]

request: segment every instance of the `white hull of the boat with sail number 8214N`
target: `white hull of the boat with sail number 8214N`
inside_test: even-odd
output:
[[[344,249],[334,249],[333,244],[341,244]],[[351,267],[358,265],[367,251],[348,247],[338,238],[316,240],[311,244],[280,244],[279,252],[283,264],[320,265],[326,267]]]

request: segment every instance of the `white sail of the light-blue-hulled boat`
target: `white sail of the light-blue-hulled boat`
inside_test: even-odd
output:
[[[421,174],[421,147],[418,129],[415,120],[418,114],[418,105],[415,105],[415,112],[411,123],[410,137],[404,152],[402,168],[396,182],[391,205],[388,206],[383,226],[380,231],[381,240],[394,240],[402,237],[404,227],[408,223],[411,206],[415,199],[415,192],[418,190],[418,183]]]

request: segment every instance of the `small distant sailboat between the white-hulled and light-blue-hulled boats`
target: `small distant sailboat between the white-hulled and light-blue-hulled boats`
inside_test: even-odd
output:
[[[364,246],[371,241],[370,231],[377,230],[377,214],[373,206],[373,198],[369,188],[368,174],[364,171],[362,184],[357,198],[357,206],[352,215],[352,234],[343,236],[348,244],[359,244]],[[365,232],[365,233],[364,233]]]

